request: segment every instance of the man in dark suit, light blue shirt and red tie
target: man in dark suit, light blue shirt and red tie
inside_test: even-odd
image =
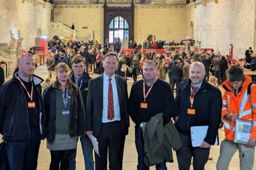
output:
[[[90,80],[86,107],[86,134],[99,142],[96,170],[121,170],[125,136],[128,134],[127,82],[115,75],[116,53],[103,57],[104,74]]]

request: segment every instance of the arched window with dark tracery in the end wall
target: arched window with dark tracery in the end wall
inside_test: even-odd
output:
[[[129,24],[123,17],[117,16],[109,24],[109,43],[122,39],[129,39]]]

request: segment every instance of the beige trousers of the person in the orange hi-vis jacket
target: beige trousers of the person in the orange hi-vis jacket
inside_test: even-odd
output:
[[[237,150],[239,152],[240,170],[252,170],[255,147],[248,148],[244,144],[233,143],[227,139],[224,139],[220,145],[220,157],[217,162],[217,170],[228,170],[230,160]]]

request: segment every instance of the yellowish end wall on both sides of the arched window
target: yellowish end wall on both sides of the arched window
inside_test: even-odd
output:
[[[156,36],[156,39],[180,41],[186,36],[186,11],[186,6],[135,5],[134,40],[143,43],[152,35]],[[54,22],[63,22],[67,25],[74,23],[77,37],[88,37],[91,31],[94,31],[95,39],[102,43],[103,13],[102,5],[80,6],[80,8],[56,6]],[[83,27],[87,28],[83,29]]]

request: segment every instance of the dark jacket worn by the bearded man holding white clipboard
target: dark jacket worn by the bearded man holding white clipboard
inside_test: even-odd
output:
[[[213,145],[221,120],[221,92],[204,80],[194,98],[193,108],[195,108],[196,113],[195,115],[188,115],[188,108],[191,105],[189,98],[191,94],[190,88],[191,80],[182,82],[175,97],[175,103],[178,108],[177,116],[179,116],[175,124],[177,130],[189,136],[190,127],[209,125],[204,141]]]

